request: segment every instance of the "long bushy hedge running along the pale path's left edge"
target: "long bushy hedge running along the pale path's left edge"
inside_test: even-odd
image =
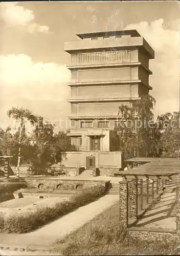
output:
[[[0,219],[1,232],[25,233],[51,222],[80,206],[95,201],[105,194],[103,185],[83,189],[70,200],[58,202],[53,206],[43,206],[26,214],[11,215]]]

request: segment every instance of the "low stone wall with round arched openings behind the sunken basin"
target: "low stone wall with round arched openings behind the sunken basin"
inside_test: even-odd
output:
[[[25,179],[27,188],[39,188],[41,189],[61,189],[61,190],[76,190],[85,187],[90,187],[98,184],[102,184],[106,187],[104,181],[85,181],[85,180],[53,180],[53,179]]]

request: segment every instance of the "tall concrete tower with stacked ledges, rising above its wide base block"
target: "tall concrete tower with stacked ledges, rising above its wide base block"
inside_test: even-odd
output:
[[[112,152],[121,104],[149,93],[154,51],[137,30],[77,34],[71,54],[71,142],[81,152]]]

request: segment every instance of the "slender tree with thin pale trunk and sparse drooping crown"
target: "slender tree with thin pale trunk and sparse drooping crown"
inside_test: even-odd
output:
[[[18,160],[17,160],[17,176],[19,176],[19,166],[20,166],[20,158],[21,158],[21,140],[22,140],[22,132],[25,130],[25,124],[29,121],[32,125],[36,122],[36,116],[32,114],[32,112],[28,109],[23,108],[15,108],[12,107],[8,110],[7,115],[9,118],[14,118],[16,122],[18,122],[19,127],[19,138],[18,138]]]

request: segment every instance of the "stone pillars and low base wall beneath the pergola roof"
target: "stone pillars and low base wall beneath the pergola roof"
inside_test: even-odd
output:
[[[149,180],[147,183],[149,185]],[[163,179],[153,179],[150,186],[147,186],[147,190],[142,187],[142,179],[134,180],[129,179],[127,181],[120,182],[120,224],[123,225],[130,236],[141,240],[164,240],[168,242],[179,241],[180,234],[180,189],[179,180],[176,181],[176,230],[167,229],[150,229],[134,227],[133,224],[137,223],[138,219],[142,218],[143,214],[160,198],[163,192]],[[158,187],[157,187],[158,185]],[[141,186],[141,187],[139,187]],[[146,186],[145,186],[146,187]],[[158,188],[158,189],[157,189]],[[138,211],[137,197],[141,193],[144,194],[147,191],[147,202],[145,208],[142,207]],[[137,193],[138,192],[138,193]],[[140,193],[141,192],[141,193]],[[151,198],[151,201],[149,201]],[[142,199],[142,198],[141,198]],[[140,202],[142,204],[142,202]],[[131,222],[131,219],[133,221]]]

